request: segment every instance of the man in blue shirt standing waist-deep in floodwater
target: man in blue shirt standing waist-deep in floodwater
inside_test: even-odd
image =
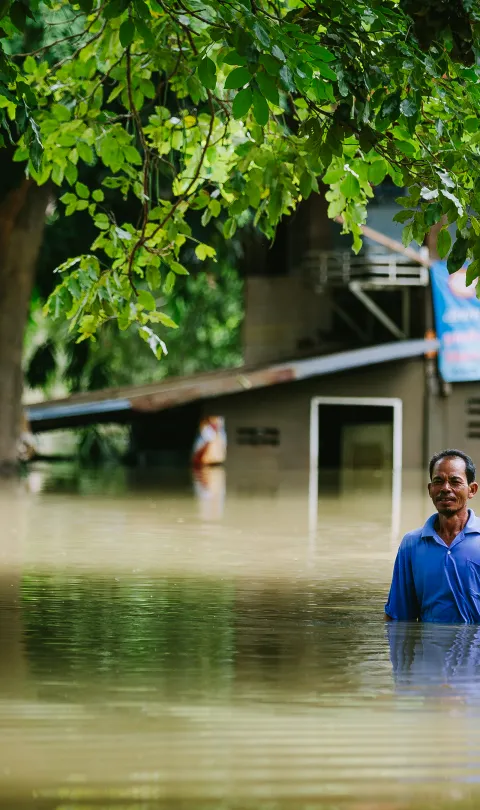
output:
[[[480,519],[468,508],[478,490],[475,464],[461,450],[443,450],[429,472],[437,511],[400,544],[385,618],[480,624]]]

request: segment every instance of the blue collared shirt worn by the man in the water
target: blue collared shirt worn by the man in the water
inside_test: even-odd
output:
[[[469,509],[447,546],[434,529],[437,518],[400,543],[385,613],[397,621],[480,624],[480,519]]]

